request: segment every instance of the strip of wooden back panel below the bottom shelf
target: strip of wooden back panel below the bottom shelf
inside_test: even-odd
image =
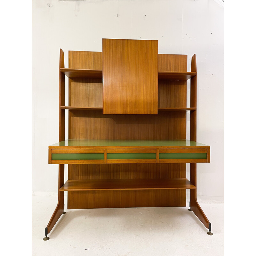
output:
[[[186,189],[68,191],[68,209],[167,206],[186,206]]]

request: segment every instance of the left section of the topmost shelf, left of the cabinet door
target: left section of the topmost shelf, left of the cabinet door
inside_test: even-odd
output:
[[[81,78],[101,78],[102,79],[102,70],[98,70],[98,69],[60,68],[60,72],[64,73],[69,78],[81,77]]]

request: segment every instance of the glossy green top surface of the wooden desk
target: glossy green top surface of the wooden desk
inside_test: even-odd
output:
[[[207,146],[191,140],[63,140],[51,146],[71,147],[157,147],[157,146]]]

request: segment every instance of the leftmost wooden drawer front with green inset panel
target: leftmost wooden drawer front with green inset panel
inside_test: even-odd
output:
[[[104,164],[104,149],[52,149],[50,164]]]

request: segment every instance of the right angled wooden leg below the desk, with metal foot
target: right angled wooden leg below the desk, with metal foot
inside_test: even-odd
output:
[[[190,182],[196,186],[196,163],[190,164]],[[190,189],[189,206],[189,209],[193,211],[196,214],[197,218],[204,224],[204,226],[209,229],[209,232],[207,232],[207,234],[211,236],[211,223],[209,222],[209,220],[207,219],[203,210],[201,209],[200,205],[197,202],[196,189]]]

